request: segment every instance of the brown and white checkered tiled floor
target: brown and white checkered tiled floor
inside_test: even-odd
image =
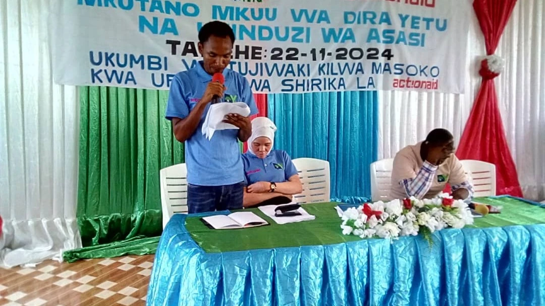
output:
[[[145,305],[154,255],[0,268],[0,305]]]

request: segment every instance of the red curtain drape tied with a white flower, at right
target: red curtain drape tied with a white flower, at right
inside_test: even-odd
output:
[[[501,34],[517,0],[475,0],[473,8],[485,36],[487,55],[498,47]],[[456,155],[459,159],[476,159],[496,165],[496,193],[522,197],[517,169],[505,139],[498,96],[494,86],[495,74],[487,65],[481,68],[481,88],[465,125]],[[478,188],[476,188],[478,190]]]

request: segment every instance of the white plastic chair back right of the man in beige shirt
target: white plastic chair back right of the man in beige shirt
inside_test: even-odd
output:
[[[461,160],[469,182],[473,184],[474,197],[496,195],[496,166],[480,160]]]

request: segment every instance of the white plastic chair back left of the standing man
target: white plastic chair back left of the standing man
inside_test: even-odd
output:
[[[178,164],[163,168],[159,177],[165,228],[172,215],[187,213],[187,167],[185,164]]]

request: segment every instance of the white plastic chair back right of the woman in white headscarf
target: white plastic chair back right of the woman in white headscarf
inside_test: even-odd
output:
[[[329,161],[314,158],[297,158],[293,164],[299,173],[303,191],[294,199],[300,203],[330,201]]]

